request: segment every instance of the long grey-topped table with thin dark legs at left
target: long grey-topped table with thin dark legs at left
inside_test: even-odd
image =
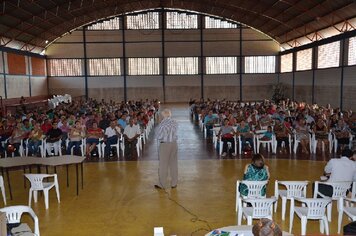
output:
[[[37,165],[38,167],[38,172],[41,171],[41,166],[53,166],[56,171],[57,166],[65,165],[67,168],[67,187],[69,186],[69,176],[68,176],[68,165],[75,164],[76,165],[76,177],[77,177],[77,195],[79,195],[79,177],[78,177],[78,164],[81,166],[81,180],[82,180],[82,189],[84,186],[83,182],[83,162],[85,160],[85,157],[81,156],[72,156],[72,155],[63,155],[63,156],[55,156],[55,157],[8,157],[8,158],[2,158],[0,159],[0,168],[2,171],[2,174],[4,175],[4,169],[6,171],[6,176],[7,176],[7,182],[8,182],[8,187],[9,187],[9,192],[10,192],[10,199],[12,199],[12,191],[11,191],[11,184],[10,184],[10,176],[9,176],[9,168],[12,167],[24,167],[25,171],[25,166],[31,166],[31,165]],[[48,170],[47,170],[48,172]]]

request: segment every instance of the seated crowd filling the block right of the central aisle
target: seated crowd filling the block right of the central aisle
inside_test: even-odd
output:
[[[254,145],[253,137],[257,130],[266,130],[263,140],[271,138],[273,133],[279,152],[287,152],[290,142],[297,141],[300,144],[297,147],[301,146],[303,153],[313,152],[310,150],[311,140],[314,140],[318,151],[321,151],[322,147],[327,151],[331,147],[330,135],[332,140],[336,141],[332,144],[337,143],[338,151],[346,146],[352,148],[352,137],[356,133],[356,113],[341,111],[330,105],[321,106],[288,99],[279,103],[269,100],[263,102],[192,100],[190,105],[192,117],[206,129],[208,139],[213,135],[213,127],[235,127],[235,134],[241,138],[243,149]],[[224,124],[226,120],[227,124]],[[268,131],[268,127],[272,132],[271,129]],[[231,143],[231,136],[228,138],[222,137],[223,155],[226,155],[225,143]]]

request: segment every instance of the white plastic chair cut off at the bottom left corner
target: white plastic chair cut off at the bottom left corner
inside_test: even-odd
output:
[[[38,217],[31,207],[28,206],[9,206],[0,209],[1,212],[5,212],[7,223],[16,224],[21,223],[21,216],[23,213],[28,213],[34,221],[34,234],[40,236],[40,227]]]

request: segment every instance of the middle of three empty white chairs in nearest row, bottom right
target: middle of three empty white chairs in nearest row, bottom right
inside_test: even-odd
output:
[[[297,200],[306,206],[296,207],[294,206],[294,200]],[[291,211],[289,221],[289,233],[292,232],[294,213],[301,220],[302,232],[301,235],[306,234],[307,220],[319,220],[320,221],[320,233],[329,234],[328,219],[325,215],[325,208],[331,203],[331,199],[322,198],[292,198],[291,199]]]

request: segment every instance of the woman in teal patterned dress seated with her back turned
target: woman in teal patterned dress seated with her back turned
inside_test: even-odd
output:
[[[251,164],[245,166],[243,180],[265,181],[269,180],[270,173],[262,154],[254,154]],[[248,188],[245,184],[240,184],[239,191],[242,196],[248,195]],[[262,189],[262,196],[266,195],[266,186]]]

